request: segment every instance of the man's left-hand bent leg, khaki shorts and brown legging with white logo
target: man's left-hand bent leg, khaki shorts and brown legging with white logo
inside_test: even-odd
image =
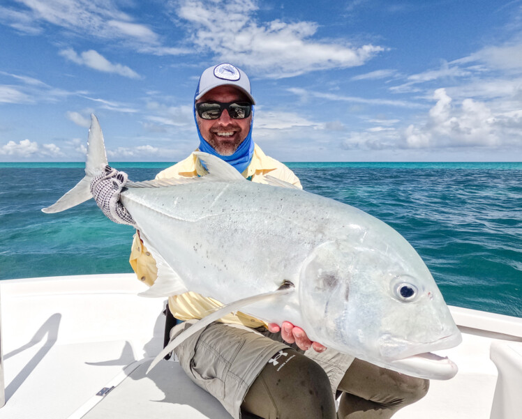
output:
[[[190,326],[190,321],[177,325],[171,338]],[[174,352],[188,377],[216,397],[234,419],[246,410],[263,419],[336,417],[325,371],[253,329],[211,323]]]

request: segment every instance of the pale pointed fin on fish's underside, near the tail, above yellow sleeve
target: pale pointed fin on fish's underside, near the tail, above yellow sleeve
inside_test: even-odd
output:
[[[154,284],[147,289],[147,291],[141,292],[142,297],[168,297],[177,296],[188,291],[181,277],[167,264],[167,261],[163,259],[161,254],[154,248],[153,245],[147,240],[144,234],[140,234],[143,240],[143,244],[147,247],[147,250],[151,253],[156,261],[156,267],[158,268],[158,277]]]

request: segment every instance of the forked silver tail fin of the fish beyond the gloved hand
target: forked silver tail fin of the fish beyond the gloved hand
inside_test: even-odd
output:
[[[91,128],[87,140],[87,162],[85,162],[85,176],[77,185],[47,208],[42,208],[44,213],[59,213],[68,208],[82,204],[92,198],[91,180],[101,174],[107,166],[107,154],[100,123],[94,114],[91,114]]]

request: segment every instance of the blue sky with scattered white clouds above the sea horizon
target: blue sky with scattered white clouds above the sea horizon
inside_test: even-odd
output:
[[[204,68],[251,77],[282,161],[521,161],[522,0],[4,0],[0,162],[197,147]]]

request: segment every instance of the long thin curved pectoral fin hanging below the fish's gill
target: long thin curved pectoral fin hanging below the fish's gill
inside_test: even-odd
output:
[[[234,311],[237,311],[240,308],[245,307],[246,305],[259,303],[263,300],[269,300],[269,298],[274,298],[274,296],[283,296],[285,294],[290,294],[292,291],[294,291],[294,285],[292,284],[292,282],[285,281],[283,282],[281,287],[279,287],[275,291],[259,294],[257,296],[242,298],[241,300],[234,301],[233,303],[223,305],[223,307],[203,317],[201,320],[194,323],[190,328],[177,335],[177,337],[175,337],[174,340],[169,342],[169,344],[167,344],[167,346],[163,348],[163,351],[161,351],[158,354],[158,356],[154,358],[151,365],[149,366],[149,369],[147,370],[147,374],[149,374],[149,371],[152,370],[158,362],[165,358],[167,353],[170,353],[176,346],[181,344],[181,342],[184,342],[184,340],[188,339],[188,337],[191,337],[192,335],[194,335],[194,333],[197,333],[198,331],[202,330],[202,328],[208,326],[213,321],[221,319],[221,317],[230,314]]]

